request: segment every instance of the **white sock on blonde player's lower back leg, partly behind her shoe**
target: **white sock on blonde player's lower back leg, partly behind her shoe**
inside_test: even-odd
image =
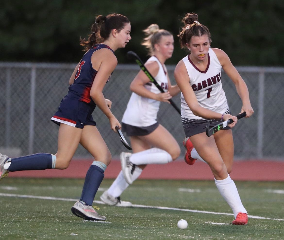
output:
[[[141,173],[142,169],[136,166],[132,175],[133,182],[140,176]],[[107,192],[114,197],[119,197],[123,193],[123,191],[128,188],[128,186],[129,184],[125,181],[121,170]]]

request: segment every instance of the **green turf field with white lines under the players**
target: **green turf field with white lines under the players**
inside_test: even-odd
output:
[[[97,202],[112,181],[103,180],[94,202],[106,221],[95,222],[70,211],[83,179],[3,179],[0,239],[284,239],[283,182],[236,181],[250,216],[237,226],[214,181],[137,180],[121,196],[131,208]]]

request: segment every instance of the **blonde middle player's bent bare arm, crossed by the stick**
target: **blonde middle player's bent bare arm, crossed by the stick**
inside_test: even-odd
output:
[[[156,76],[158,74],[159,65],[156,61],[146,63],[145,67],[147,68],[149,73],[151,73],[151,75]],[[172,96],[169,92],[155,94],[144,87],[144,84],[146,84],[147,82],[150,82],[149,78],[142,70],[140,70],[131,82],[130,90],[145,98],[151,98],[160,102],[170,103],[168,100],[171,99]]]

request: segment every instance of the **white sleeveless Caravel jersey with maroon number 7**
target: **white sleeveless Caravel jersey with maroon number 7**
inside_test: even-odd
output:
[[[182,60],[187,69],[190,79],[189,83],[195,93],[199,105],[214,112],[225,113],[229,107],[221,83],[222,66],[214,51],[209,48],[208,65],[205,71],[200,71],[195,67],[193,62],[189,59],[189,55]],[[182,93],[181,115],[188,119],[202,119],[202,117],[192,113],[185,102]]]

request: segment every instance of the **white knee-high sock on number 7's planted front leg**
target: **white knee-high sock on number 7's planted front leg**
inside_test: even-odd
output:
[[[223,180],[215,179],[215,184],[223,198],[232,208],[235,218],[239,212],[247,213],[241,202],[237,187],[229,175]]]

